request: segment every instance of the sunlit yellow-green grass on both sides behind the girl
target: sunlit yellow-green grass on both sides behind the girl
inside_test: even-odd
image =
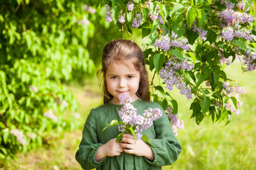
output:
[[[226,67],[228,77],[236,79],[238,85],[245,86],[247,94],[240,96],[244,101],[240,115],[225,126],[212,123],[205,118],[200,125],[191,117],[191,101],[180,96],[177,91],[172,95],[178,101],[178,117],[184,121],[185,128],[178,131],[178,140],[183,150],[172,166],[163,169],[256,169],[256,80],[255,72],[242,74],[238,62]],[[70,86],[70,90],[80,102],[81,121],[85,122],[91,108],[100,105],[102,97],[97,81],[88,81],[85,86]],[[66,132],[52,140],[51,145],[18,154],[11,166],[2,169],[81,169],[75,161],[75,152],[81,138],[82,127],[74,132]]]

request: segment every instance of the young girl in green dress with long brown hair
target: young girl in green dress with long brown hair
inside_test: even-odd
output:
[[[104,47],[102,69],[104,79],[104,105],[94,108],[85,122],[82,140],[75,159],[82,169],[161,169],[173,164],[181,152],[181,145],[171,130],[171,124],[159,103],[149,101],[149,81],[143,52],[131,40],[112,40]],[[117,126],[103,130],[112,120],[120,120],[122,107],[119,94],[128,94],[137,114],[148,108],[160,108],[163,116],[142,133],[151,145],[143,140],[134,141],[129,134],[117,143]]]

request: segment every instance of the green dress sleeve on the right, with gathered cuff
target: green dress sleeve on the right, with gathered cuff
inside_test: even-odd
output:
[[[174,164],[181,153],[181,145],[174,136],[169,119],[164,110],[161,110],[163,111],[163,116],[154,121],[156,139],[149,139],[149,142],[154,146],[149,145],[154,153],[154,161],[151,162],[149,159],[144,158],[146,162],[153,166]]]

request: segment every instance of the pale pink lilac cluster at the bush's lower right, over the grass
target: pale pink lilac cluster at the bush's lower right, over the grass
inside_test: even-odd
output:
[[[235,97],[237,100],[237,107],[238,109],[235,108],[232,104],[232,100],[228,99],[228,101],[225,103],[224,108],[226,108],[228,111],[233,112],[235,115],[239,114],[239,108],[242,106],[242,101],[238,99],[239,94],[246,94],[245,88],[240,87],[240,86],[230,86],[228,82],[223,81],[223,90],[222,90],[222,95],[228,96],[229,98]],[[217,103],[216,103],[217,104]],[[221,106],[220,103],[218,103],[218,106]]]

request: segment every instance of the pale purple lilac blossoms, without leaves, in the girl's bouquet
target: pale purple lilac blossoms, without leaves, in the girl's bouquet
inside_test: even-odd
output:
[[[119,125],[118,129],[120,132],[126,132],[127,128],[135,127],[134,133],[137,139],[142,138],[142,130],[151,127],[153,121],[162,116],[159,108],[149,108],[142,115],[137,115],[137,109],[132,106],[131,98],[127,94],[120,94],[118,98],[124,104],[119,111],[119,116],[124,125]]]

